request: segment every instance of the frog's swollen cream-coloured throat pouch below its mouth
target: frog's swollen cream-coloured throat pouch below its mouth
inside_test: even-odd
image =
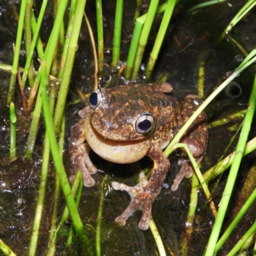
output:
[[[150,147],[148,138],[133,141],[109,140],[93,128],[90,118],[86,118],[84,127],[86,141],[92,150],[113,163],[134,163],[145,156]]]

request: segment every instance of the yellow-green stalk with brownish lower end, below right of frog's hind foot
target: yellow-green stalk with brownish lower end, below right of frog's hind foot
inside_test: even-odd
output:
[[[186,219],[186,229],[181,235],[180,239],[180,252],[182,256],[188,255],[189,251],[189,239],[193,233],[193,223],[195,220],[195,212],[196,212],[196,205],[198,200],[198,186],[199,180],[196,176],[196,173],[192,175],[192,182],[191,182],[191,194],[190,194],[190,202],[188,208],[188,215]]]

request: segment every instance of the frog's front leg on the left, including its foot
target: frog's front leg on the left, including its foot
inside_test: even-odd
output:
[[[92,179],[91,174],[96,173],[97,168],[89,157],[90,146],[88,143],[84,142],[86,141],[86,136],[84,134],[85,122],[86,118],[83,118],[71,128],[71,136],[68,141],[68,152],[72,163],[72,172],[69,179],[70,182],[73,182],[76,173],[79,170],[83,175],[84,186],[90,188],[95,184],[95,180]]]

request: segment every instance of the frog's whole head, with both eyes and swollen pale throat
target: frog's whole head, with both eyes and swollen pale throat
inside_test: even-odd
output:
[[[123,88],[124,89],[124,88]],[[154,107],[147,95],[132,90],[98,89],[91,93],[86,141],[99,156],[114,163],[132,163],[147,154],[154,133]]]

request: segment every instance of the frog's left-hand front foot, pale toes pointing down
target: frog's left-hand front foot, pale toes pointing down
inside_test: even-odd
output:
[[[73,171],[70,175],[70,182],[73,182],[76,177],[76,172],[79,170],[83,175],[83,183],[86,188],[94,186],[95,180],[91,174],[97,172],[96,166],[92,163],[89,157],[90,147],[87,143],[69,148]]]

